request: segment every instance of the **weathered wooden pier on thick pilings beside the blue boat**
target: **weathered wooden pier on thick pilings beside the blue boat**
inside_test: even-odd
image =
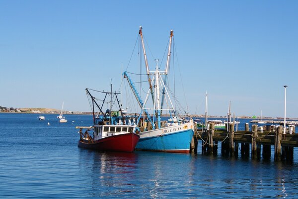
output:
[[[244,131],[234,131],[234,124],[229,125],[229,131],[215,130],[212,123],[207,132],[196,129],[191,151],[197,153],[198,141],[202,140],[202,154],[217,155],[218,145],[221,143],[221,152],[225,156],[237,158],[240,150],[241,156],[251,155],[252,159],[260,159],[262,148],[263,159],[270,159],[271,146],[274,146],[275,161],[293,161],[294,147],[298,147],[295,127],[290,126],[290,130],[283,134],[283,126],[268,125],[260,128],[252,125],[250,131],[246,123]]]

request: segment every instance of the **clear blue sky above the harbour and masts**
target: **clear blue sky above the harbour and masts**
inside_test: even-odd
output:
[[[0,105],[90,111],[85,88],[121,82],[143,26],[153,59],[169,32],[190,113],[298,117],[295,0],[0,0]],[[154,67],[154,66],[152,66]],[[186,106],[186,105],[185,105]]]

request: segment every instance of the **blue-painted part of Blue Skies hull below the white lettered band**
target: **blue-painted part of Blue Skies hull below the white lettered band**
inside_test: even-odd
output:
[[[136,149],[173,153],[189,153],[194,131],[187,129],[170,134],[140,138]]]

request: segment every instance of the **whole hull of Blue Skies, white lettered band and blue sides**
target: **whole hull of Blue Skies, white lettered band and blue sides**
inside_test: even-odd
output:
[[[137,150],[189,153],[194,135],[192,122],[140,133]]]

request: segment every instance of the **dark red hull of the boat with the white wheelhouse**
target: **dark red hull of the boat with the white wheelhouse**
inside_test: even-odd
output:
[[[140,136],[135,133],[126,133],[105,137],[100,140],[96,140],[94,143],[79,140],[77,146],[101,151],[133,152],[139,139]]]

